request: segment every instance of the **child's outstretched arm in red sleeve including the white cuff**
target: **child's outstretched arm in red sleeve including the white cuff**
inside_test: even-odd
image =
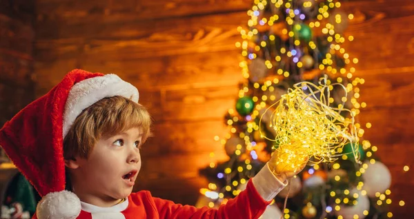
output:
[[[266,165],[248,181],[246,190],[228,200],[219,209],[203,207],[197,209],[189,205],[177,205],[169,200],[152,198],[159,218],[259,218],[271,200],[286,186],[278,180]]]

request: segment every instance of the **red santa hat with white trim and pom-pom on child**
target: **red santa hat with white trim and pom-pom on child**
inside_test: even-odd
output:
[[[138,102],[139,93],[115,74],[72,70],[0,129],[0,146],[42,197],[37,218],[79,215],[79,198],[65,191],[63,138],[82,110],[110,96]]]

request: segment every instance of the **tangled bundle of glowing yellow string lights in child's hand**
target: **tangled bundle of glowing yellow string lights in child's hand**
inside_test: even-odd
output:
[[[279,163],[284,168],[297,169],[303,158],[315,158],[311,161],[313,163],[333,162],[342,156],[346,143],[351,143],[355,160],[359,162],[359,138],[351,110],[331,107],[328,101],[329,91],[334,85],[346,89],[340,83],[320,83],[319,86],[309,82],[297,83],[267,109],[275,106],[270,126],[275,129],[276,136],[270,139],[263,135],[279,145]],[[341,116],[342,111],[349,112],[351,119]]]

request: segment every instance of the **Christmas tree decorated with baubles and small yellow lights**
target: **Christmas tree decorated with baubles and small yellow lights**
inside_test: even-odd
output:
[[[358,102],[358,86],[364,79],[354,78],[358,60],[342,48],[346,41],[353,41],[353,36],[346,35],[353,14],[340,7],[341,2],[334,0],[254,1],[246,28],[238,29],[242,41],[236,43],[244,57],[239,66],[246,80],[240,85],[235,109],[225,115],[228,134],[221,140],[216,137],[229,159],[201,170],[210,183],[200,190],[198,206],[217,207],[246,187],[279,147],[269,114],[274,104],[293,85],[320,84],[322,79],[329,87],[330,105],[349,109],[341,112],[344,118],[356,118],[357,153],[350,143],[334,162],[308,165],[290,180],[290,189],[277,195],[262,218],[393,216],[388,211],[391,174],[375,156],[377,147],[364,139],[364,128],[371,124],[357,122],[359,110],[366,107]],[[345,89],[330,86],[334,83]]]

